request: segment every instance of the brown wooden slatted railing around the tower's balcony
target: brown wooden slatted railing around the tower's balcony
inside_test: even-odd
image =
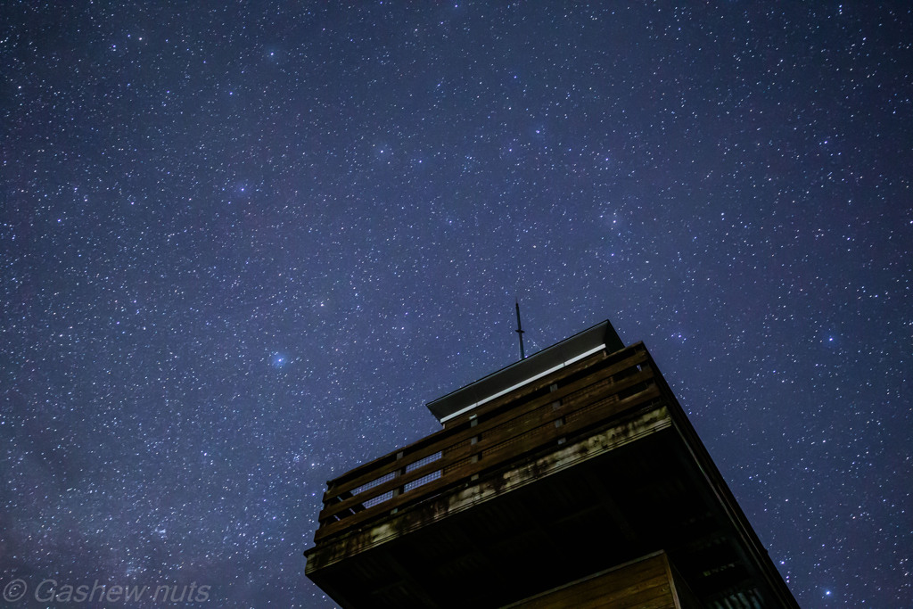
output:
[[[642,343],[597,352],[355,467],[328,483],[314,541],[436,497],[656,399],[654,371]]]

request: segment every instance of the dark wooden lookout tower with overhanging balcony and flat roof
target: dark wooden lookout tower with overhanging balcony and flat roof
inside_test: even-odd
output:
[[[605,321],[428,404],[328,483],[343,607],[797,607],[643,343]]]

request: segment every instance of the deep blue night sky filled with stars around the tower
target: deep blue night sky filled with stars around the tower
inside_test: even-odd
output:
[[[908,3],[299,4],[0,7],[0,586],[333,606],[325,481],[516,298],[645,341],[803,607],[913,606]]]

